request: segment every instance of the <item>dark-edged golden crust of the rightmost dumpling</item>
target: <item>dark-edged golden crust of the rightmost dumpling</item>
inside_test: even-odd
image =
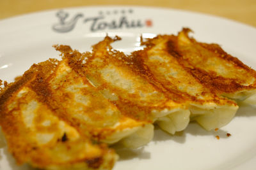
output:
[[[189,38],[189,29],[169,36],[166,50],[177,57],[205,87],[218,94],[256,89],[256,72],[219,45],[198,43]],[[203,66],[203,67],[202,67]]]

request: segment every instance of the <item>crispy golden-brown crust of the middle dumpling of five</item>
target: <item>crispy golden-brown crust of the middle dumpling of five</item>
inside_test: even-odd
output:
[[[182,96],[174,91],[165,90],[147,69],[140,66],[139,61],[131,62],[124,53],[112,50],[110,43],[119,39],[118,37],[111,39],[107,36],[93,46],[93,53],[79,53],[68,46],[56,46],[56,50],[62,53],[63,59],[68,59],[72,69],[81,76],[86,76],[97,89],[103,93],[108,91],[110,94],[116,94],[118,99],[113,99],[111,102],[127,117],[152,122],[155,119],[152,117],[152,110],[186,107]],[[115,73],[109,73],[104,77],[104,73],[113,70],[117,73],[116,77],[121,77],[120,81],[126,82],[124,85],[118,85],[119,80],[115,83],[111,82],[116,78],[111,78]],[[109,80],[106,80],[108,78]],[[125,89],[125,85],[131,87]],[[132,90],[134,92],[131,92]],[[140,92],[144,93],[145,97],[141,97]],[[156,94],[150,94],[152,92]]]

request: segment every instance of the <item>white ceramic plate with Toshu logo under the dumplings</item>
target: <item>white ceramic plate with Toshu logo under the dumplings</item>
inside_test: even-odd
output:
[[[54,44],[70,45],[81,52],[109,36],[122,41],[114,47],[126,53],[140,49],[140,34],[177,34],[193,29],[199,41],[218,43],[228,53],[256,69],[256,29],[237,22],[188,11],[135,6],[90,6],[22,15],[0,21],[0,78],[13,81],[33,63],[58,58]],[[197,124],[175,136],[159,129],[147,146],[118,150],[115,170],[153,169],[254,169],[256,166],[256,109],[242,106],[234,120],[217,132]],[[227,137],[230,133],[232,136]],[[215,136],[220,136],[216,139]],[[0,169],[18,167],[1,149]]]

